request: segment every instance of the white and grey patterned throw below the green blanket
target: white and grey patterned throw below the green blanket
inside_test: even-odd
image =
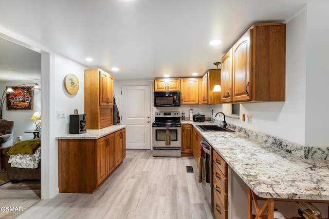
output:
[[[41,148],[36,149],[34,154],[16,154],[10,155],[8,162],[11,167],[36,169],[39,166],[41,158]]]

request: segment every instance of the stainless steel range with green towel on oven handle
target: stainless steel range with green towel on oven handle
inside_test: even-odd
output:
[[[152,139],[153,157],[180,157],[180,112],[155,112]]]

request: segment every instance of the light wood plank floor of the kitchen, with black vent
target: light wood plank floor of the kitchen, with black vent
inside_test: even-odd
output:
[[[194,173],[187,173],[193,166]],[[60,193],[16,218],[213,218],[193,157],[152,157],[127,150],[126,158],[93,194]]]

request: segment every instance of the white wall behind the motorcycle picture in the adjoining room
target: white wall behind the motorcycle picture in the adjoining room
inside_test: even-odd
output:
[[[31,83],[23,86],[34,86],[38,83],[41,87],[40,81],[2,81],[0,82],[0,90],[5,90],[6,86],[17,86],[20,84]],[[22,140],[32,139],[33,133],[24,133],[26,130],[34,130],[34,120],[30,120],[34,112],[41,110],[41,91],[34,90],[33,92],[33,110],[9,110],[6,109],[6,101],[3,108],[3,119],[14,121],[14,143],[18,141],[17,137],[22,136]]]

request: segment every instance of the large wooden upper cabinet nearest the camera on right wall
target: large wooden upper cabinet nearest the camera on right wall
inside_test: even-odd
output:
[[[285,101],[285,24],[254,24],[222,58],[222,102]]]

